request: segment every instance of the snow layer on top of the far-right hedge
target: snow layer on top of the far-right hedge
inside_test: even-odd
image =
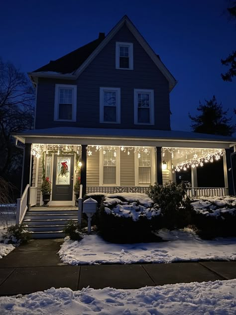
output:
[[[206,216],[220,217],[224,214],[236,215],[236,198],[223,197],[198,197],[191,202],[194,210]]]

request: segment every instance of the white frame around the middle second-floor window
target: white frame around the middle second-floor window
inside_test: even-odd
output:
[[[117,109],[117,121],[116,122],[105,122],[104,121],[104,92],[116,92],[117,99],[116,99],[116,109]],[[100,123],[103,124],[120,124],[120,88],[107,88],[107,87],[100,87]]]

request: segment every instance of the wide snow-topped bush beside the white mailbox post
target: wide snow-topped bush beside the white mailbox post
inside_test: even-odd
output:
[[[152,231],[161,228],[160,214],[159,206],[145,194],[107,194],[99,210],[99,232],[113,243],[157,241]]]

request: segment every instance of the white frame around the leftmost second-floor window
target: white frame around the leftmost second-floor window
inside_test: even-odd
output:
[[[72,119],[59,119],[59,92],[60,88],[72,89]],[[60,122],[76,122],[77,108],[77,85],[71,84],[55,84],[55,101],[54,101],[54,121]]]

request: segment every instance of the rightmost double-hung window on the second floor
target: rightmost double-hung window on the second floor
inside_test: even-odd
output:
[[[154,125],[154,91],[134,89],[134,124]]]

